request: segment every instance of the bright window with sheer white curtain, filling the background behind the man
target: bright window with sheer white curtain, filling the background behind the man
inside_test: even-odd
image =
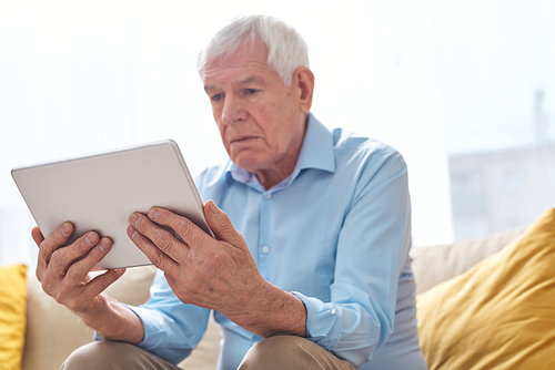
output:
[[[168,137],[193,173],[225,158],[195,64],[239,13],[304,35],[325,125],[405,156],[415,245],[554,206],[553,1],[0,0],[0,264],[36,258],[17,165]]]

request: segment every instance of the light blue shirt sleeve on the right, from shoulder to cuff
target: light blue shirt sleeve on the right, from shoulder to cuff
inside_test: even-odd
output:
[[[356,367],[393,332],[411,246],[406,165],[394,151],[382,154],[360,164],[337,240],[331,301],[293,292],[306,307],[307,339]]]

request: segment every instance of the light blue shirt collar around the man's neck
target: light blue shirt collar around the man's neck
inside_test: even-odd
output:
[[[272,187],[272,191],[287,187],[303,169],[322,169],[326,172],[335,172],[335,157],[333,155],[333,135],[312,113],[306,120],[306,132],[304,134],[303,145],[296,161],[293,173],[284,178],[281,183]],[[261,187],[256,176],[238,166],[229,160],[225,166],[225,173],[240,183],[253,187]],[[264,189],[262,188],[264,192]]]

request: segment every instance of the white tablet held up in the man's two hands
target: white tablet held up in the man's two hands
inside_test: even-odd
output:
[[[127,235],[129,217],[153,207],[168,208],[213,236],[202,201],[173,141],[149,143],[11,171],[37,225],[44,236],[63,222],[74,233],[89,230],[110,237],[112,250],[94,270],[149,265]]]

